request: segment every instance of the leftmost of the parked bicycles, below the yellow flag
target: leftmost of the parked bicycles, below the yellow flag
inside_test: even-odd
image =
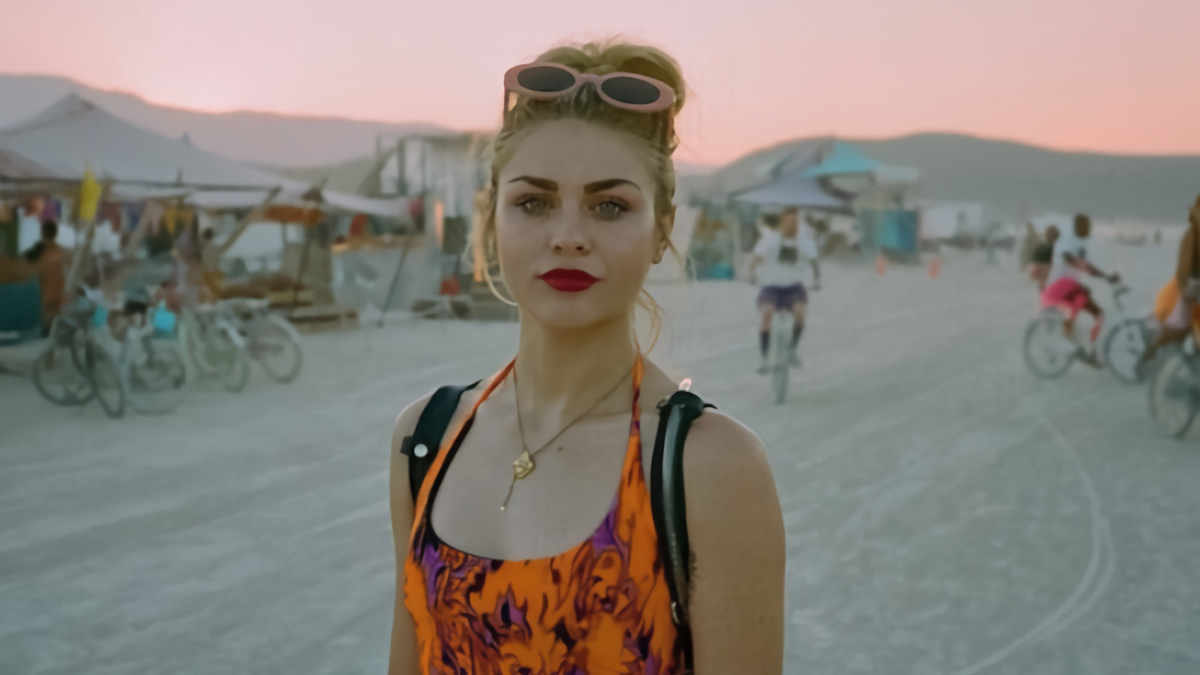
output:
[[[50,344],[34,360],[37,393],[58,406],[84,406],[95,399],[110,418],[125,414],[125,383],[112,353],[92,328],[106,312],[86,289],[50,325]]]

